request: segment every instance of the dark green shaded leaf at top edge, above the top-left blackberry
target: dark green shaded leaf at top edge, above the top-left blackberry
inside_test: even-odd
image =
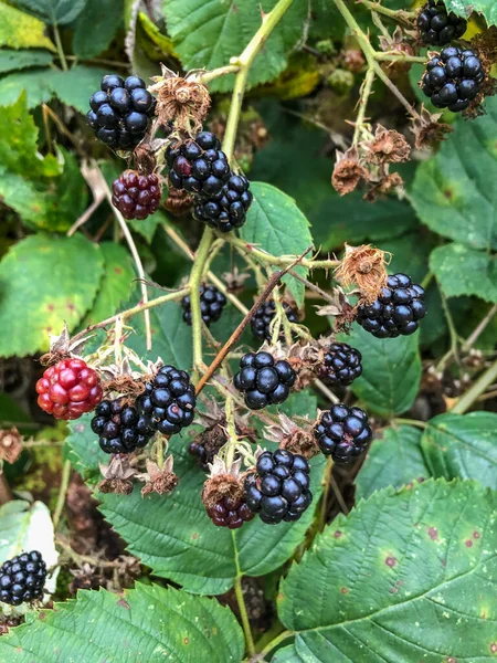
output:
[[[77,17],[73,50],[83,60],[105,51],[123,22],[123,0],[86,0]]]

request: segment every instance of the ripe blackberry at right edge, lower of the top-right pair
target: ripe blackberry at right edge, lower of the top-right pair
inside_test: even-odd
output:
[[[473,51],[447,46],[426,65],[421,88],[437,108],[464,110],[485,80],[482,62]]]

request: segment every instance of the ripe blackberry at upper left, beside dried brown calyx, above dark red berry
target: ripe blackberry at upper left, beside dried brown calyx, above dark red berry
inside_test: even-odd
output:
[[[138,76],[107,75],[89,99],[86,115],[96,137],[113,149],[134,149],[145,137],[156,99]]]

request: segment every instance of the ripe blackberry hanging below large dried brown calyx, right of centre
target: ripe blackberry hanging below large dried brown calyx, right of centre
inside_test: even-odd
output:
[[[357,322],[377,338],[395,338],[414,334],[425,315],[421,285],[412,283],[406,274],[394,274],[388,277],[378,299],[359,306]]]

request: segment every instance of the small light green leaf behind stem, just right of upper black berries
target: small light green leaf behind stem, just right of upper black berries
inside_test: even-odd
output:
[[[246,242],[257,244],[273,255],[299,255],[313,243],[309,222],[294,200],[271,185],[252,182],[254,202],[248,210],[240,235]],[[305,267],[295,267],[305,276]],[[298,306],[304,303],[304,285],[288,274],[283,278]]]

